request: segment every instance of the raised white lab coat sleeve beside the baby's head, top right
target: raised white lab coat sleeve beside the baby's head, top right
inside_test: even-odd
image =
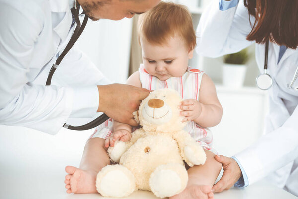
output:
[[[254,23],[254,17],[250,17]],[[219,9],[219,1],[212,0],[200,18],[197,27],[196,52],[202,56],[219,57],[246,48],[252,41],[246,36],[252,27],[243,0],[236,7],[225,11]]]

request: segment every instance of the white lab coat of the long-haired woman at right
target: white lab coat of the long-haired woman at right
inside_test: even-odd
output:
[[[250,19],[253,24],[254,17]],[[201,16],[196,51],[209,57],[237,52],[253,43],[246,40],[251,29],[243,0],[226,11],[220,11],[219,1],[213,0]],[[287,89],[298,66],[298,49],[288,48],[277,63],[279,48],[274,43],[269,44],[268,73],[274,83],[269,90],[266,135],[235,157],[243,166],[249,184],[267,176],[298,196],[298,91]],[[260,71],[264,67],[264,53],[265,45],[256,44]],[[298,86],[298,80],[294,86]]]

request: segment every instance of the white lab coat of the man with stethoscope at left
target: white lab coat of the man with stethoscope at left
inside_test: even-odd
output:
[[[44,86],[74,31],[73,2],[0,0],[0,124],[55,134],[69,117],[95,115],[96,85],[109,81],[75,45]]]

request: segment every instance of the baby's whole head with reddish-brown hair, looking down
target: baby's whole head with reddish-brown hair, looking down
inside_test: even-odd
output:
[[[182,76],[196,46],[189,11],[183,5],[159,3],[140,16],[139,42],[149,74],[160,80]]]

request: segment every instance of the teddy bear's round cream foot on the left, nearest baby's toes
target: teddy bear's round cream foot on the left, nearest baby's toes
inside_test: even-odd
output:
[[[136,180],[122,165],[108,165],[98,172],[96,190],[105,197],[126,197],[136,189]]]

